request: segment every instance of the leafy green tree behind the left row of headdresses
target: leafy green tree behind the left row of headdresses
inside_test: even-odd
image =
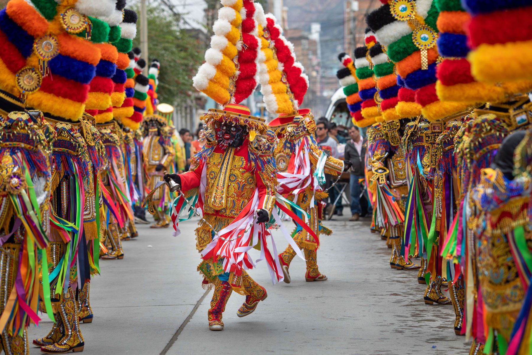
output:
[[[136,11],[139,12],[138,8]],[[154,59],[161,63],[159,100],[170,104],[184,102],[195,92],[192,77],[203,60],[203,43],[182,28],[176,16],[160,6],[148,5],[147,19],[149,59],[142,57],[148,66]],[[133,41],[134,47],[140,47],[139,34]]]

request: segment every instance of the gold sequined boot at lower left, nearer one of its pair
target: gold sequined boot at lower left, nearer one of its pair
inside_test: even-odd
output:
[[[61,339],[53,345],[42,346],[40,351],[45,354],[83,351],[85,342],[79,329],[76,295],[70,287],[59,304],[59,315],[63,323]]]

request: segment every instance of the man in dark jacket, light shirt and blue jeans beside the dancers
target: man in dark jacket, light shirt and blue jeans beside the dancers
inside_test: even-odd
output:
[[[367,141],[360,135],[358,127],[353,126],[349,129],[351,140],[345,146],[345,160],[351,161],[350,187],[351,187],[351,221],[358,221],[362,209],[360,207],[360,179],[364,176],[364,157],[366,152]],[[371,214],[371,207],[368,206],[368,214]]]

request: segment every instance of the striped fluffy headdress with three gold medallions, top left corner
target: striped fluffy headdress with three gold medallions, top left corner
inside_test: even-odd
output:
[[[26,98],[28,106],[78,120],[101,58],[78,34],[90,35],[87,15],[109,15],[114,2],[32,3],[11,0],[0,11],[0,86]]]

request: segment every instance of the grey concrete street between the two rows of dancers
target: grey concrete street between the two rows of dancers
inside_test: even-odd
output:
[[[468,353],[464,337],[454,335],[453,308],[427,306],[417,272],[390,269],[389,249],[369,222],[346,217],[325,222],[335,232],[322,238],[318,253],[328,281],[305,282],[304,261],[296,258],[292,283],[273,286],[262,261],[251,275],[267,287],[268,299],[238,318],[244,297],[234,293],[225,330],[211,332],[212,291],[201,288],[196,271],[196,221],[183,222],[177,238],[170,229],[139,226],[140,236],[124,242],[123,260],[101,261],[90,297],[95,318],[80,325],[86,355]],[[275,240],[283,250],[284,237]],[[49,331],[44,317],[30,327],[30,341]]]

